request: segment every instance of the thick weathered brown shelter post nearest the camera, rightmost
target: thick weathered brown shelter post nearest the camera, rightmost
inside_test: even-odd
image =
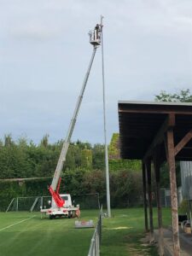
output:
[[[178,233],[178,212],[177,212],[177,182],[175,169],[175,148],[173,130],[167,131],[167,153],[170,174],[170,188],[172,201],[172,233],[173,233],[173,254],[180,255],[179,233]]]

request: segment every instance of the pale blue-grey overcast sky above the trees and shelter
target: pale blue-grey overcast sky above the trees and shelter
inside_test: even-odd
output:
[[[119,100],[191,89],[191,0],[0,0],[1,138],[66,136],[100,15],[108,141],[119,131]],[[102,124],[98,49],[72,140],[103,143]]]

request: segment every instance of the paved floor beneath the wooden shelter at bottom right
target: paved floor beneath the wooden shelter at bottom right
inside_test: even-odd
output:
[[[173,256],[172,230],[163,230],[164,232],[164,249],[166,256]],[[192,235],[186,234],[179,230],[181,256],[192,256]],[[158,241],[158,230],[154,230],[155,240]]]

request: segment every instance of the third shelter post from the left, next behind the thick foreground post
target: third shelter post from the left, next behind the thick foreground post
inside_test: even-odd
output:
[[[160,148],[158,148],[160,149]],[[160,150],[156,150],[154,154],[154,177],[156,183],[156,196],[157,196],[157,213],[158,213],[158,227],[159,227],[159,253],[160,256],[164,255],[164,242],[163,242],[163,225],[162,225],[162,210],[160,205]]]

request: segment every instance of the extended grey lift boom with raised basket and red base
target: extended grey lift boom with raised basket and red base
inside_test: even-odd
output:
[[[90,76],[90,69],[92,67],[94,57],[96,55],[96,49],[101,44],[101,36],[102,36],[101,33],[102,33],[102,26],[99,24],[96,24],[95,29],[93,31],[89,32],[90,44],[93,45],[93,52],[92,52],[92,55],[90,58],[90,64],[87,69],[87,73],[85,74],[85,77],[84,77],[84,83],[82,85],[82,89],[79,94],[78,102],[76,103],[76,107],[73,112],[73,118],[71,119],[70,125],[68,127],[67,137],[66,137],[66,139],[62,145],[62,148],[61,148],[61,154],[60,154],[59,160],[57,162],[57,166],[55,169],[55,174],[54,174],[52,183],[49,186],[49,192],[52,195],[52,197],[54,198],[57,207],[63,207],[65,204],[65,201],[59,195],[59,187],[60,187],[60,182],[61,182],[61,171],[62,171],[63,165],[66,161],[67,150],[68,150],[68,147],[69,147],[69,144],[71,141],[71,137],[73,135],[73,129],[74,129],[77,117],[78,117],[79,108],[80,108],[81,102],[83,100],[84,90],[85,90],[87,81]]]

